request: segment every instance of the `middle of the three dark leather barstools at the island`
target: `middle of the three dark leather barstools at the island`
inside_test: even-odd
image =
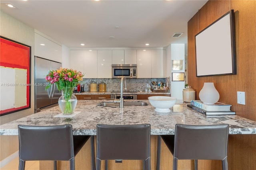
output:
[[[101,160],[143,160],[150,170],[150,125],[97,125],[96,170]]]

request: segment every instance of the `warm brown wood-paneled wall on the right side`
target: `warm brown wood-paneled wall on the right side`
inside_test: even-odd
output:
[[[232,9],[235,14],[237,74],[196,77],[194,36]],[[220,93],[220,102],[231,104],[231,109],[236,111],[236,115],[254,121],[256,121],[255,9],[255,0],[209,0],[188,21],[188,85],[196,89],[196,99],[199,100],[198,95],[204,82],[214,82]],[[237,91],[245,92],[245,105],[237,104]],[[230,135],[228,147],[230,170],[256,169],[256,135]]]

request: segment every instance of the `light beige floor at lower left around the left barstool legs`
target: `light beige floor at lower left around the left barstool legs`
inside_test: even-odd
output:
[[[0,170],[18,170],[19,158],[16,157],[10,163],[6,164]],[[39,170],[39,161],[26,161],[25,170]]]

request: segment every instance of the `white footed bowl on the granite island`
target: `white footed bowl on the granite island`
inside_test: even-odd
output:
[[[168,97],[168,96],[150,96],[148,101],[150,104],[155,107],[157,112],[170,112],[170,108],[174,106],[177,98]]]

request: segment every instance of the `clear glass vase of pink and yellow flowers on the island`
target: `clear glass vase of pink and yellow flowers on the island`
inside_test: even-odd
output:
[[[48,82],[46,89],[55,83],[58,90],[62,91],[62,96],[60,96],[58,104],[64,115],[74,113],[77,98],[73,94],[73,91],[83,80],[83,76],[84,74],[80,71],[60,67],[57,70],[50,70],[45,78],[46,82]]]

